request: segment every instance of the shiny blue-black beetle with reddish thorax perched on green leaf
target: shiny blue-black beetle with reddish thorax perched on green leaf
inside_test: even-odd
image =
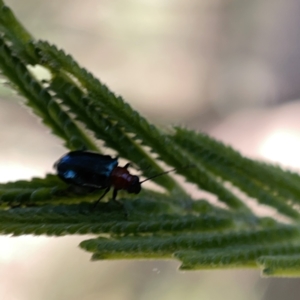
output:
[[[119,190],[138,194],[143,182],[173,171],[163,172],[140,181],[138,176],[129,173],[127,170],[129,166],[130,163],[127,163],[124,167],[119,167],[118,158],[83,150],[71,151],[54,164],[58,177],[66,183],[105,189],[103,195],[95,202],[94,207],[109,192],[111,187],[114,189],[112,199],[116,201]]]

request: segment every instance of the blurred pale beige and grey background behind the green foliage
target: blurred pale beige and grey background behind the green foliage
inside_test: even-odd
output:
[[[297,0],[6,0],[140,113],[244,155],[300,168]],[[0,90],[0,181],[53,172],[64,153]],[[0,299],[298,299],[298,279],[257,270],[179,272],[176,261],[89,261],[83,237],[0,237]]]

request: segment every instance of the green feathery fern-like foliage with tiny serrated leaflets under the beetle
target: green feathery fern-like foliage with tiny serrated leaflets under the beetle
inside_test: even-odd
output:
[[[163,172],[162,161],[222,204],[191,199],[168,174],[153,179],[164,192],[124,193],[122,205],[92,209],[101,191],[74,191],[48,174],[0,184],[1,233],[94,234],[80,244],[94,260],[176,258],[184,270],[258,267],[268,276],[300,275],[298,174],[245,158],[203,133],[158,129],[70,55],[33,39],[1,0],[0,32],[2,75],[67,149],[105,152],[96,143],[102,140],[145,177]],[[51,79],[36,78],[36,65]],[[251,201],[281,221],[258,216]]]

